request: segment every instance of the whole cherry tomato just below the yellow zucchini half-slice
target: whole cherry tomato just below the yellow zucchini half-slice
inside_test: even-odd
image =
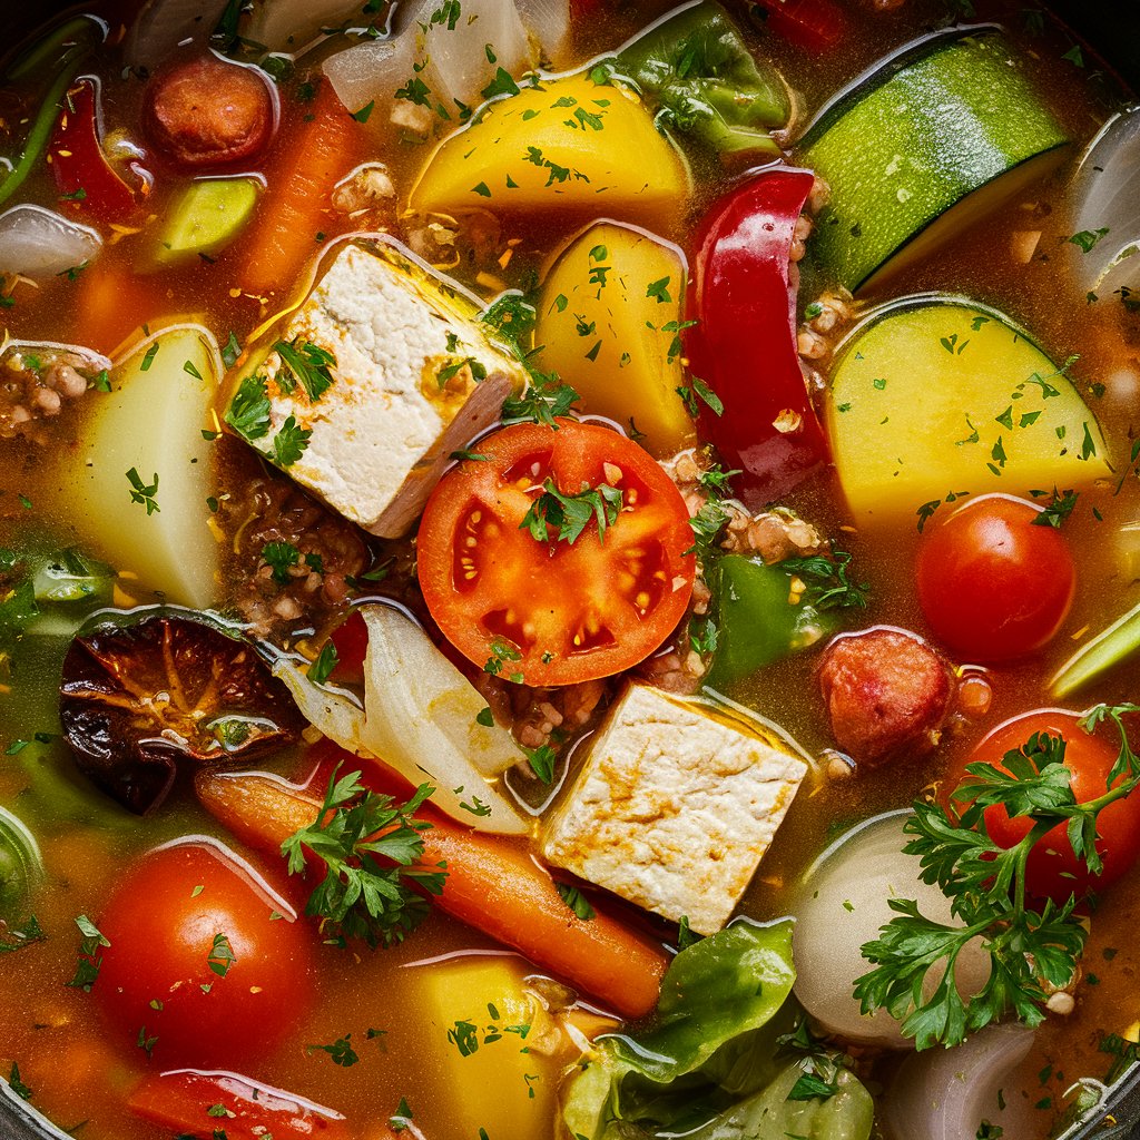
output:
[[[1076,568],[1065,537],[1036,526],[1039,507],[983,495],[923,537],[922,612],[962,657],[1004,661],[1041,649],[1068,617]]]

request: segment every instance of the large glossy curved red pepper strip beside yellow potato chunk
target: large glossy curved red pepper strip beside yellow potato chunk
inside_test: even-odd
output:
[[[814,176],[776,166],[730,190],[701,222],[693,254],[685,351],[693,377],[724,412],[700,431],[750,510],[780,498],[828,462],[828,445],[796,350],[789,254]]]

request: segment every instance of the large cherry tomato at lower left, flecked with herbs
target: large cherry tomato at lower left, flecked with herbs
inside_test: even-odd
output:
[[[310,1004],[310,931],[220,845],[152,852],[98,926],[111,942],[93,987],[104,1013],[164,1065],[244,1064]]]

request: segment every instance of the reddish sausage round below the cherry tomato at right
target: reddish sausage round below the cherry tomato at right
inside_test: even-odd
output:
[[[929,751],[952,695],[942,658],[915,634],[885,626],[837,637],[819,681],[836,743],[866,765]]]

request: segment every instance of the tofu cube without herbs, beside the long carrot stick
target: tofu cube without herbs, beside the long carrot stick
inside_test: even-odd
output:
[[[555,866],[714,934],[728,921],[807,765],[710,706],[633,684],[551,819]]]

